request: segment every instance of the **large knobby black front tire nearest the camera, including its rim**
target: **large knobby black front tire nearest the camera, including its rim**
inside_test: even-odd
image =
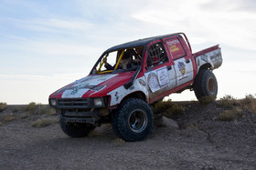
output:
[[[144,100],[129,98],[112,115],[114,133],[128,142],[143,140],[152,130],[154,116]]]

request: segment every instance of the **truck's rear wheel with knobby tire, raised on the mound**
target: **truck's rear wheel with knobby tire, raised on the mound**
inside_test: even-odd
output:
[[[215,75],[210,70],[200,70],[195,78],[193,89],[199,101],[202,101],[204,96],[216,98],[218,82]]]

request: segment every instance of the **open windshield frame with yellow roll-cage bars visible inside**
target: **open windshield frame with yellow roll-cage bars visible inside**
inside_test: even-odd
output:
[[[135,47],[112,51],[101,56],[92,74],[119,73],[135,70],[142,63],[144,48]]]

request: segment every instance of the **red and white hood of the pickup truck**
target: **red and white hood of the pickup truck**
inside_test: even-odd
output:
[[[49,98],[83,98],[105,96],[113,89],[128,83],[133,72],[108,75],[89,75],[60,88]]]

